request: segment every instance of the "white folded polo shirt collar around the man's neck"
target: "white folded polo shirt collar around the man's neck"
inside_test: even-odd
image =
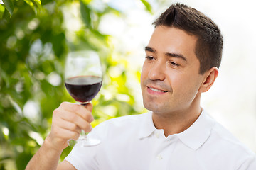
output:
[[[213,118],[210,118],[210,115],[203,110],[198,119],[188,129],[175,135],[183,144],[196,150],[206,142],[214,124]],[[146,114],[146,118],[142,120],[139,138],[149,137],[155,130],[152,113],[149,112]]]

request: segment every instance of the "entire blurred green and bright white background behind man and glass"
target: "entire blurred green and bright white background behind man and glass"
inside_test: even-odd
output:
[[[90,48],[101,57],[93,126],[145,113],[144,47],[151,23],[176,2],[202,11],[222,30],[220,74],[201,105],[256,152],[255,1],[0,0],[0,170],[25,169],[50,132],[53,110],[75,102],[63,81],[71,50]]]

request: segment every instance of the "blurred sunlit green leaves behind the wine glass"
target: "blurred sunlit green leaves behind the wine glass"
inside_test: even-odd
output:
[[[135,1],[135,0],[134,0]],[[137,0],[139,1],[139,0]],[[65,90],[63,68],[70,50],[90,48],[100,54],[104,84],[93,102],[95,122],[142,112],[127,86],[124,57],[112,57],[110,35],[98,31],[102,16],[123,13],[103,1],[102,10],[90,0],[3,0],[0,4],[0,170],[25,169],[48,135],[53,110],[63,101],[73,101]],[[150,4],[141,0],[151,13]],[[83,21],[80,30],[69,35],[65,10],[77,6]],[[122,65],[118,77],[109,70]],[[133,72],[139,83],[139,70]],[[54,83],[54,79],[60,82]],[[121,96],[121,97],[120,97]],[[24,106],[33,103],[36,116],[28,116]],[[105,113],[105,111],[112,113]],[[72,147],[64,150],[61,160]]]

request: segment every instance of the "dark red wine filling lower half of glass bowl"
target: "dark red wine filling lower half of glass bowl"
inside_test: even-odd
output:
[[[65,87],[75,101],[85,103],[91,101],[102,86],[101,77],[81,76],[71,77],[65,81]]]

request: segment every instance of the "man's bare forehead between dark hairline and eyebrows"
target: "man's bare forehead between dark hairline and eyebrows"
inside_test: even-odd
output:
[[[178,53],[189,61],[197,60],[197,38],[185,31],[166,26],[157,26],[149,40],[149,47],[153,47],[157,53]]]

